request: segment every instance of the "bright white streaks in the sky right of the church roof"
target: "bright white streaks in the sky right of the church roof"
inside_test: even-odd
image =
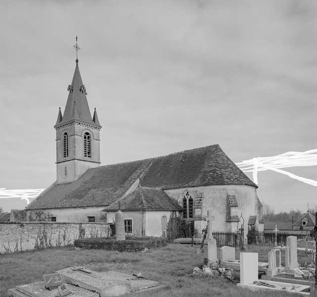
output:
[[[303,183],[317,187],[317,181],[304,178],[279,168],[316,166],[317,149],[307,151],[288,151],[272,157],[258,157],[235,163],[243,172],[252,172],[253,182],[258,184],[258,171],[272,170],[285,174]]]

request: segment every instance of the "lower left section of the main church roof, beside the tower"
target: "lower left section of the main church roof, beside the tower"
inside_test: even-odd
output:
[[[89,169],[75,182],[53,184],[26,209],[108,206],[128,191],[149,161],[146,159]]]

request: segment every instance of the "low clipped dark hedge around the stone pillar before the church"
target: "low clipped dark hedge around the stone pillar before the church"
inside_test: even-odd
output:
[[[84,249],[106,249],[118,251],[140,251],[145,248],[165,247],[167,239],[163,237],[133,237],[127,236],[126,240],[116,240],[115,237],[83,238],[74,241],[75,247]]]

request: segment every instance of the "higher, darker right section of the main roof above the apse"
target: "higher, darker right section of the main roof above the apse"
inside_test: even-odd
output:
[[[209,185],[249,185],[258,188],[219,145],[157,157],[142,178],[143,187],[160,189]]]

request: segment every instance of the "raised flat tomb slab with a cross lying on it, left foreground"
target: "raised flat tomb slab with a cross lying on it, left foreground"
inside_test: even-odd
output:
[[[97,292],[100,297],[120,296],[131,292],[129,277],[133,278],[133,276],[119,274],[116,271],[109,271],[109,275],[102,275],[98,272],[86,273],[68,267],[56,273],[60,274],[64,282]]]

